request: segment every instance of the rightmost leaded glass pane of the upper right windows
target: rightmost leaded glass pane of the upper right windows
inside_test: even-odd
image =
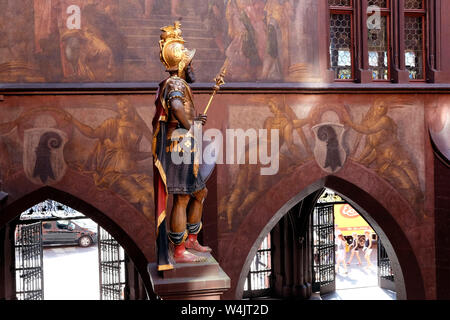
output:
[[[405,17],[405,62],[410,79],[423,79],[423,17]]]

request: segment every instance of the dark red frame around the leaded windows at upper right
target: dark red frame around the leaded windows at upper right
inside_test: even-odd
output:
[[[327,16],[328,16],[328,63],[330,70],[331,82],[354,82],[354,83],[424,83],[434,82],[436,75],[434,73],[438,70],[433,69],[432,65],[428,65],[429,59],[434,59],[436,65],[439,66],[439,50],[438,45],[434,43],[437,49],[433,52],[427,47],[428,41],[432,45],[434,36],[430,34],[433,30],[431,23],[436,21],[430,20],[433,17],[434,11],[439,8],[439,3],[428,3],[426,0],[422,1],[421,9],[407,9],[406,0],[387,0],[386,7],[380,7],[381,16],[386,17],[387,20],[387,52],[388,52],[388,77],[387,79],[374,79],[373,68],[369,63],[369,32],[367,28],[367,18],[371,15],[367,12],[369,7],[369,0],[350,0],[349,6],[334,6],[330,1],[326,1]],[[439,1],[439,0],[436,0]],[[349,14],[351,16],[351,78],[338,79],[336,66],[332,65],[331,57],[331,15],[332,14]],[[411,79],[410,72],[406,67],[406,17],[416,16],[422,17],[422,76],[419,79]],[[439,39],[438,39],[439,40]],[[434,41],[438,41],[434,39]],[[431,50],[432,57],[429,57],[429,50]],[[331,77],[331,73],[333,76]]]

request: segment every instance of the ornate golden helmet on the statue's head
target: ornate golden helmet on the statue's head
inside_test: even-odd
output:
[[[159,41],[160,59],[167,71],[178,71],[182,76],[185,68],[192,61],[195,49],[184,47],[184,39],[181,36],[181,23],[176,21],[173,26],[161,28],[161,40]]]

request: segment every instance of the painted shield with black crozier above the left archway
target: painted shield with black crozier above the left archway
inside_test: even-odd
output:
[[[53,128],[35,128],[24,132],[23,167],[27,178],[38,185],[59,182],[65,175],[65,132]]]

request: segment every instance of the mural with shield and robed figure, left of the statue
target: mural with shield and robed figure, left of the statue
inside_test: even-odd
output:
[[[55,185],[70,168],[90,176],[99,190],[115,192],[154,219],[153,177],[148,169],[152,133],[147,122],[126,98],[110,104],[95,102],[90,116],[84,104],[25,109],[14,120],[0,124],[3,180],[24,170],[33,184]]]

